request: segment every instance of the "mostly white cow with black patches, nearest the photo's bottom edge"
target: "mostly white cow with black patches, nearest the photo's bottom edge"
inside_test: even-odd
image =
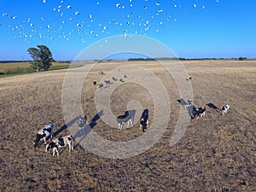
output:
[[[49,148],[52,148],[52,155],[54,156],[56,152],[56,154],[59,156],[60,154],[58,148],[64,148],[66,145],[68,145],[68,152],[70,153],[73,150],[73,137],[71,135],[56,138],[54,141],[46,145],[45,151],[47,152]]]

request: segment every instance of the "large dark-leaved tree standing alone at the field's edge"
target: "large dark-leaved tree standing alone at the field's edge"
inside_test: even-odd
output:
[[[48,71],[49,67],[52,66],[54,59],[47,46],[38,45],[37,48],[29,48],[27,51],[33,59],[32,68],[36,72],[40,71],[42,68],[44,68],[44,71]]]

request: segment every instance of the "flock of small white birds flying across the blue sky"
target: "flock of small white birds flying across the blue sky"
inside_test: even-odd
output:
[[[215,1],[218,2],[218,0]],[[135,33],[147,35],[148,30],[151,28],[159,32],[161,26],[169,26],[171,21],[177,20],[169,11],[172,12],[172,9],[183,7],[182,4],[176,3],[175,0],[167,1],[170,4],[168,10],[165,8],[166,2],[164,5],[162,1],[154,1],[153,4],[152,1],[144,0],[144,5],[137,7],[135,1],[127,0],[127,2],[113,3],[113,10],[119,9],[114,10],[117,11],[115,13],[119,14],[119,11],[122,11],[122,16],[113,15],[112,20],[96,20],[94,13],[95,15],[101,13],[97,10],[87,10],[84,15],[84,9],[80,11],[79,9],[82,8],[68,4],[68,1],[66,3],[66,1],[61,0],[58,3],[59,5],[53,9],[51,8],[51,10],[49,10],[50,6],[47,6],[49,3],[47,0],[43,0],[42,3],[45,5],[46,13],[47,11],[54,11],[56,15],[54,20],[46,19],[47,15],[39,15],[39,18],[27,17],[22,20],[19,15],[14,15],[15,13],[3,13],[0,27],[7,26],[9,30],[15,32],[14,38],[24,38],[27,42],[32,38],[46,39],[47,43],[55,38],[69,40],[74,34],[75,37],[79,37],[80,42],[85,43],[86,38],[98,38],[102,34],[114,35],[109,34],[113,32],[113,30],[110,32],[109,28],[115,28],[115,32],[119,32],[119,34]],[[96,8],[100,7],[102,3],[97,1]],[[204,5],[195,3],[191,7],[205,9]],[[148,9],[150,11],[147,11]],[[94,13],[90,13],[92,11]],[[109,15],[111,15],[111,12]],[[186,15],[187,12],[184,11],[184,14]],[[35,20],[38,19],[40,21],[36,22]],[[4,20],[6,21],[4,22]],[[155,20],[158,21],[155,22]]]

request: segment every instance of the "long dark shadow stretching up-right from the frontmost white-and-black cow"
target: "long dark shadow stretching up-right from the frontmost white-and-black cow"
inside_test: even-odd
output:
[[[79,146],[79,143],[81,143],[81,141],[83,141],[84,137],[86,137],[90,131],[96,126],[97,124],[97,120],[101,119],[103,115],[103,110],[101,110],[99,113],[96,113],[96,115],[91,119],[90,124],[89,125],[85,125],[84,126],[84,132],[81,133],[80,131],[78,131],[73,138],[76,139],[78,137],[81,137],[81,139],[79,140],[78,144],[74,146],[74,148],[77,148]]]

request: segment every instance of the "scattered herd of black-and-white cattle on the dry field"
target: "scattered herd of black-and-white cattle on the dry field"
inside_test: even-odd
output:
[[[99,74],[104,75],[104,73],[102,73],[102,72],[100,72]],[[126,75],[125,75],[125,78],[127,78]],[[115,80],[115,79],[113,78],[113,80]],[[191,78],[189,78],[187,80],[191,80]],[[110,81],[109,82],[105,81],[105,83],[109,84]],[[93,84],[96,85],[96,81],[94,81]],[[191,119],[198,119],[200,117],[205,117],[206,108],[204,108],[204,107],[195,108],[191,99],[189,99],[187,102],[185,102],[183,99],[178,100],[178,101],[180,102],[180,104],[183,106],[184,109],[189,111],[189,116],[191,117]],[[224,105],[224,107],[221,108],[221,114],[224,115],[225,113],[228,112],[229,109],[230,109],[229,104]],[[128,111],[125,111],[125,113],[123,115],[119,115],[116,118],[119,130],[123,129],[123,126],[125,123],[127,123],[127,128],[129,128],[130,125],[133,126],[134,116],[135,116],[135,110],[128,110]],[[142,128],[143,132],[147,131],[148,109],[143,110],[143,113],[142,113],[142,116],[141,116],[139,122],[140,122],[139,129]],[[85,126],[89,125],[86,115],[81,116],[77,123],[79,126],[79,133],[84,134]],[[42,128],[41,130],[39,130],[37,132],[36,140],[34,141],[34,148],[37,148],[37,147],[39,148],[41,143],[44,142],[44,144],[46,145],[45,151],[47,152],[47,151],[49,151],[50,148],[52,148],[53,156],[55,154],[57,154],[59,156],[59,149],[64,148],[66,146],[69,147],[69,153],[70,153],[73,150],[73,140],[74,139],[73,139],[72,135],[68,135],[65,137],[58,137],[58,138],[55,138],[54,140],[52,140],[54,137],[53,128],[54,128],[54,125],[49,124],[49,125],[45,125],[44,128]],[[50,140],[49,143],[46,143],[47,139]]]

